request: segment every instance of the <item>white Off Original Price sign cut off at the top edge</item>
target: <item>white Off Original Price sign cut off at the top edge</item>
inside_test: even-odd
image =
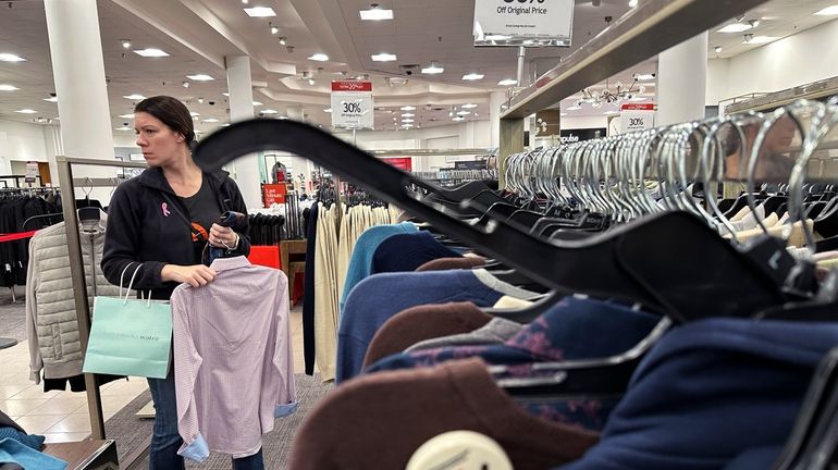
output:
[[[475,0],[475,46],[570,46],[574,0]]]

